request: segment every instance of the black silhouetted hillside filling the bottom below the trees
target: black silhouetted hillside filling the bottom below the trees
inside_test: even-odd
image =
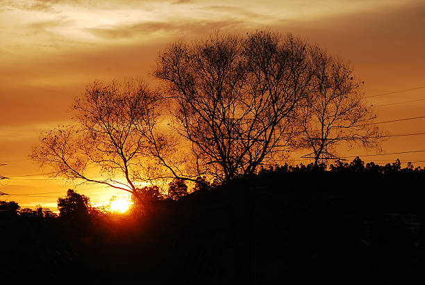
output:
[[[425,171],[261,169],[128,215],[0,204],[1,277],[63,283],[422,284]],[[84,211],[83,211],[84,212]],[[71,212],[72,213],[72,212]],[[85,212],[84,212],[85,213]]]

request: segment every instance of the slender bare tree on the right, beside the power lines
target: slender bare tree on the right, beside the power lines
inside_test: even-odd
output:
[[[383,131],[376,127],[376,115],[367,108],[360,82],[348,63],[311,47],[314,92],[303,112],[303,144],[313,150],[315,165],[338,158],[335,147],[348,142],[379,148]]]

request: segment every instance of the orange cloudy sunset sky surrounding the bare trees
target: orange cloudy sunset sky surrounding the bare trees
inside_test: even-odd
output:
[[[69,121],[72,102],[94,79],[155,84],[155,58],[174,40],[214,31],[292,33],[349,60],[365,81],[378,121],[425,115],[425,3],[416,0],[124,1],[0,0],[0,198],[56,209],[68,188],[92,202],[117,190],[47,179],[29,160],[40,133]],[[377,96],[378,95],[378,96]],[[390,134],[423,133],[425,118],[381,124]],[[383,153],[425,149],[425,135],[392,137]],[[346,156],[375,154],[352,149]],[[420,161],[425,152],[364,161]],[[296,158],[294,158],[296,159]]]

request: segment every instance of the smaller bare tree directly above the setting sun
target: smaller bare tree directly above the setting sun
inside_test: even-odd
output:
[[[53,177],[104,184],[141,200],[138,182],[147,177],[141,165],[151,163],[152,142],[161,137],[154,133],[159,99],[142,82],[95,81],[76,98],[74,123],[44,133],[30,156]]]

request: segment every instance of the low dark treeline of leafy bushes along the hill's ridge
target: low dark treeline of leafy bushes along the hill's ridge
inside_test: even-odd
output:
[[[406,168],[401,168],[401,162],[399,158],[394,163],[386,163],[385,165],[379,165],[372,162],[366,163],[362,161],[358,156],[353,159],[350,163],[344,163],[343,161],[336,161],[335,163],[327,167],[324,163],[315,165],[315,163],[309,163],[304,165],[275,165],[269,166],[269,168],[260,167],[260,170],[254,176],[262,177],[267,173],[297,173],[297,172],[338,172],[338,173],[364,173],[378,176],[390,176],[399,174],[415,174],[423,175],[425,168],[420,166],[414,167],[412,163],[408,163]],[[246,178],[246,177],[245,177]],[[174,179],[168,184],[168,188],[165,192],[161,191],[158,186],[144,186],[138,188],[143,204],[139,204],[138,201],[133,197],[135,202],[135,208],[146,207],[149,204],[159,200],[178,200],[189,193],[194,192],[208,192],[217,187],[218,183],[214,182],[211,184],[206,180],[206,177],[199,177],[195,183],[194,188],[190,190],[188,185],[183,179]],[[94,213],[106,213],[108,209],[103,207],[93,207],[90,205],[90,199],[85,195],[76,193],[74,190],[69,189],[66,197],[58,198],[58,211],[60,216],[69,217],[74,215],[90,215],[90,212]],[[0,213],[3,216],[8,215],[22,215],[28,217],[40,217],[40,218],[57,218],[58,215],[53,213],[50,209],[37,206],[35,210],[30,208],[21,209],[21,206],[17,202],[11,201],[0,201]]]

